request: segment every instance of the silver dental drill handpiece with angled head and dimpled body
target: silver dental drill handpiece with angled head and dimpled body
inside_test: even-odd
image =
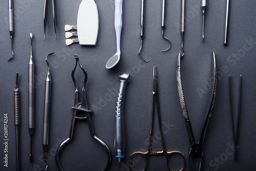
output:
[[[120,78],[120,88],[117,97],[116,104],[116,124],[115,124],[115,156],[118,158],[118,162],[122,162],[122,158],[125,156],[125,138],[124,138],[124,98],[125,98],[125,90],[126,84],[130,81],[129,74],[121,74]]]

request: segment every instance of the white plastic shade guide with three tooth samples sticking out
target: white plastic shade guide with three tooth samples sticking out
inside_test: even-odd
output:
[[[76,26],[65,26],[65,31],[75,30],[77,32],[67,32],[66,38],[78,36],[74,39],[66,39],[66,45],[79,42],[80,45],[96,45],[99,31],[99,14],[94,0],[82,0],[78,14]]]

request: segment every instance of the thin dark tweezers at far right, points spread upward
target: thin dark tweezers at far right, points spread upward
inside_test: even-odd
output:
[[[233,156],[234,161],[237,160],[237,144],[238,144],[238,130],[239,130],[239,121],[241,113],[241,92],[242,92],[242,75],[240,75],[240,89],[239,89],[239,98],[238,98],[238,115],[237,115],[237,129],[234,131],[234,115],[232,109],[232,91],[231,91],[231,75],[229,75],[229,101],[230,101],[230,114],[231,114],[231,123],[232,123],[232,133],[233,133]]]

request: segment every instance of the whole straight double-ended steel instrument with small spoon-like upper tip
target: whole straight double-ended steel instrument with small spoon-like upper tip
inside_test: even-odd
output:
[[[31,46],[29,58],[29,135],[30,135],[30,163],[33,162],[32,155],[32,135],[35,127],[35,76],[34,76],[34,58],[32,56],[32,39],[33,34],[30,33]]]

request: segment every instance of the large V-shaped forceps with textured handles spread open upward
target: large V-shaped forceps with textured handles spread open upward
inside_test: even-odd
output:
[[[200,164],[199,168],[197,170],[202,170],[202,165],[203,165],[203,142],[204,142],[204,137],[207,129],[207,125],[210,119],[210,116],[212,114],[212,110],[214,109],[214,103],[215,103],[215,97],[216,97],[216,88],[217,88],[217,69],[216,69],[216,60],[215,60],[215,52],[212,52],[211,58],[213,59],[213,67],[214,67],[214,84],[211,89],[211,94],[210,94],[210,99],[208,102],[208,108],[207,108],[207,113],[206,113],[206,120],[203,125],[203,129],[201,131],[201,135],[198,138],[197,141],[195,141],[193,130],[191,127],[191,123],[189,120],[188,112],[187,112],[187,107],[186,107],[186,102],[183,94],[183,89],[182,89],[182,84],[181,84],[181,76],[180,76],[180,52],[178,53],[177,57],[177,68],[176,68],[176,77],[177,77],[177,85],[178,85],[178,92],[179,92],[179,97],[180,97],[180,104],[182,108],[182,113],[183,117],[185,119],[186,127],[187,127],[187,133],[189,137],[189,142],[190,142],[190,152],[189,152],[189,166],[194,170],[194,165],[193,165],[193,158],[198,157],[200,159]]]

